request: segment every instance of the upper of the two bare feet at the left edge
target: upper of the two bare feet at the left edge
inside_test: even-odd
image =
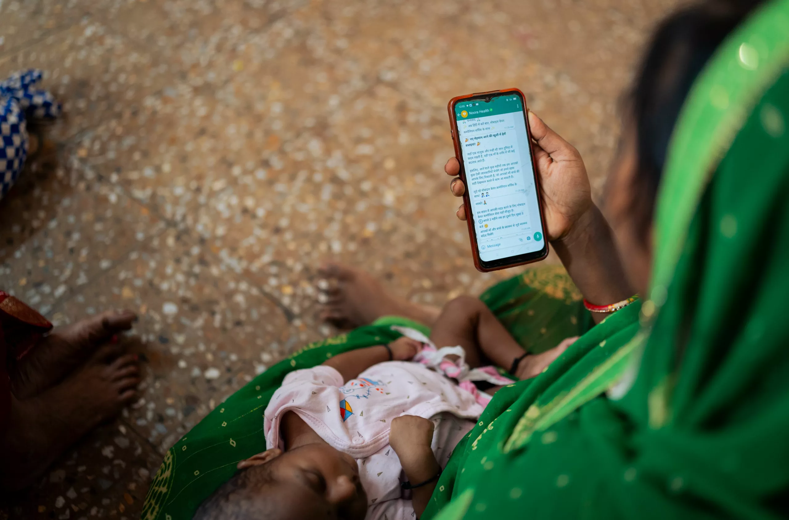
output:
[[[55,329],[9,370],[14,396],[28,399],[63,381],[115,334],[131,329],[134,320],[130,310],[107,310]]]

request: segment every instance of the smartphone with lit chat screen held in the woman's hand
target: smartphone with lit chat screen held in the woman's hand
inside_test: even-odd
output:
[[[487,273],[542,260],[548,240],[523,92],[461,95],[447,108],[474,266]]]

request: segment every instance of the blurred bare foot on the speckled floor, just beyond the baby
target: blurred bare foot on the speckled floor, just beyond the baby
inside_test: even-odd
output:
[[[395,298],[370,273],[361,269],[327,262],[318,269],[321,280],[320,318],[338,329],[369,325],[382,316],[402,316],[432,326],[439,317],[438,307],[422,306]]]

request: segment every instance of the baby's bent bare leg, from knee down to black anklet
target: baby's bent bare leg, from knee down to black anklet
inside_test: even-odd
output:
[[[439,348],[461,345],[472,368],[488,358],[509,370],[515,358],[525,355],[488,306],[473,296],[460,296],[443,306],[430,339]]]

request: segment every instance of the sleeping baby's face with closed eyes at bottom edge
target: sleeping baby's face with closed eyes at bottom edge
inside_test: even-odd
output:
[[[270,464],[274,482],[265,492],[280,506],[278,518],[364,520],[367,494],[350,455],[327,444],[308,444]]]

